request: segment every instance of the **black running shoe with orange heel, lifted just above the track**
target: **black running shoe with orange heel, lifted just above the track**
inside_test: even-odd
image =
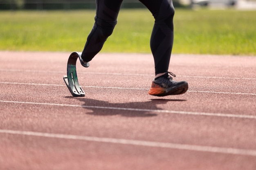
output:
[[[188,83],[185,81],[176,82],[173,80],[171,75],[176,77],[175,74],[167,72],[164,75],[155,78],[152,82],[150,90],[148,91],[148,94],[154,96],[167,96],[185,93],[189,88]]]

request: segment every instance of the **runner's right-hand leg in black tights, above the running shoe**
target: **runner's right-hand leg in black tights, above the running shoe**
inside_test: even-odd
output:
[[[150,39],[150,47],[155,60],[155,75],[168,71],[173,48],[172,0],[139,0],[153,14],[155,24]]]

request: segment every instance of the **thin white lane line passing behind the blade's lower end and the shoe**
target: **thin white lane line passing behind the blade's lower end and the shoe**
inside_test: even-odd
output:
[[[37,86],[65,86],[60,84],[36,84],[36,83],[17,83],[17,82],[0,82],[0,84],[20,84],[20,85],[37,85]],[[126,87],[104,87],[104,86],[81,86],[85,88],[114,88],[114,89],[130,89],[130,90],[148,90],[149,88],[126,88]],[[256,93],[233,93],[233,92],[217,92],[217,91],[187,91],[195,93],[217,93],[232,95],[256,95]]]

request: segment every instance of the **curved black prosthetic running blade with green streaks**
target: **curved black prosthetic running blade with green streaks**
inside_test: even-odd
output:
[[[71,53],[67,61],[67,75],[64,75],[63,79],[70,93],[74,97],[84,97],[85,93],[83,89],[79,86],[77,74],[76,74],[76,60],[81,57],[80,52]]]

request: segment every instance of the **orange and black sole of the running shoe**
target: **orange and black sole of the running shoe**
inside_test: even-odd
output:
[[[183,84],[180,84],[179,86],[174,86],[171,88],[167,88],[166,90],[164,88],[158,88],[158,89],[152,89],[150,88],[150,91],[148,94],[158,97],[168,96],[168,95],[181,95],[183,93],[186,93],[186,91],[189,88],[189,84],[187,82],[184,82]],[[163,93],[152,93],[152,91],[162,91]]]

